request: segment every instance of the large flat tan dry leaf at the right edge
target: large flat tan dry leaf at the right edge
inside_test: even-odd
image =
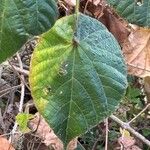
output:
[[[150,29],[139,28],[131,32],[123,45],[123,53],[129,74],[150,76]]]

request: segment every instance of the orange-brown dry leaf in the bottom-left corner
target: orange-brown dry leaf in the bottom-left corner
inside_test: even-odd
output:
[[[0,150],[15,150],[13,146],[4,137],[0,137]]]

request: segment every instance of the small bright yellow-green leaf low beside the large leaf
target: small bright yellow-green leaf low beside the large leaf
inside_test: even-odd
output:
[[[26,133],[30,131],[27,124],[28,124],[29,119],[31,118],[33,118],[33,115],[27,114],[27,113],[19,113],[16,116],[16,121],[22,133]]]

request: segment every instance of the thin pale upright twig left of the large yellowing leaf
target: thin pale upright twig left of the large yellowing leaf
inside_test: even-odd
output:
[[[21,58],[20,58],[18,53],[17,53],[17,58],[18,58],[18,62],[19,62],[19,65],[20,65],[20,69],[23,69],[23,64],[22,64]],[[24,76],[21,75],[21,96],[20,96],[20,103],[19,103],[19,113],[21,113],[22,110],[23,110],[24,95],[25,95],[24,80],[25,80]],[[14,136],[14,134],[15,134],[15,132],[17,130],[17,126],[18,126],[18,123],[15,122],[14,127],[13,127],[13,129],[11,131],[12,136],[10,136],[9,141],[12,141],[12,137]]]

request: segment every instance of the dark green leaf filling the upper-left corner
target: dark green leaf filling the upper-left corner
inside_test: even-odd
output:
[[[57,15],[53,0],[0,0],[0,63],[52,27]]]

